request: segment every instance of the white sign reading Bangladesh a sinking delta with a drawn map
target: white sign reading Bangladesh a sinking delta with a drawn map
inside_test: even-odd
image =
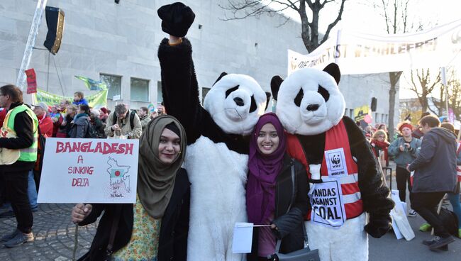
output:
[[[135,203],[138,140],[47,138],[38,203]]]

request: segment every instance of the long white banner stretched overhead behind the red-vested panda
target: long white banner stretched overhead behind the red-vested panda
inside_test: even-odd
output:
[[[372,35],[338,30],[309,55],[288,50],[288,74],[337,63],[341,74],[370,74],[450,65],[460,52],[461,19],[417,33]]]

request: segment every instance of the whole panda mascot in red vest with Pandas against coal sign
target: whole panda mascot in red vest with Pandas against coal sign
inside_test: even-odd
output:
[[[323,71],[297,70],[285,80],[275,76],[271,89],[288,133],[287,150],[309,173],[309,246],[318,249],[322,261],[363,261],[368,260],[367,233],[380,238],[389,230],[394,202],[365,136],[343,116],[339,81],[333,63]]]

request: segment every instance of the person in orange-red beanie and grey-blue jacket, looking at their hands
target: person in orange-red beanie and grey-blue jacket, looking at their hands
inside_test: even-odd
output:
[[[388,153],[394,156],[396,163],[396,182],[397,189],[399,189],[400,201],[406,201],[406,187],[411,192],[410,172],[406,170],[406,165],[411,163],[419,154],[421,148],[421,140],[413,138],[411,133],[413,126],[409,121],[399,123],[400,138],[396,138],[391,145],[389,145]],[[409,209],[408,216],[416,216],[413,209]]]

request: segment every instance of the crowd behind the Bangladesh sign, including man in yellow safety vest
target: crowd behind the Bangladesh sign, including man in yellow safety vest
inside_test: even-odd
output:
[[[18,223],[12,233],[1,238],[8,248],[33,240],[32,212],[38,211],[46,138],[138,139],[153,118],[165,114],[162,105],[155,111],[147,107],[130,111],[126,104],[117,104],[113,111],[91,108],[81,91],[75,92],[72,102],[28,106],[23,104],[21,90],[11,84],[0,88],[0,106],[0,126],[4,126],[0,147],[21,151],[19,158],[9,156],[11,162],[3,155],[0,160],[0,218],[16,217]]]

